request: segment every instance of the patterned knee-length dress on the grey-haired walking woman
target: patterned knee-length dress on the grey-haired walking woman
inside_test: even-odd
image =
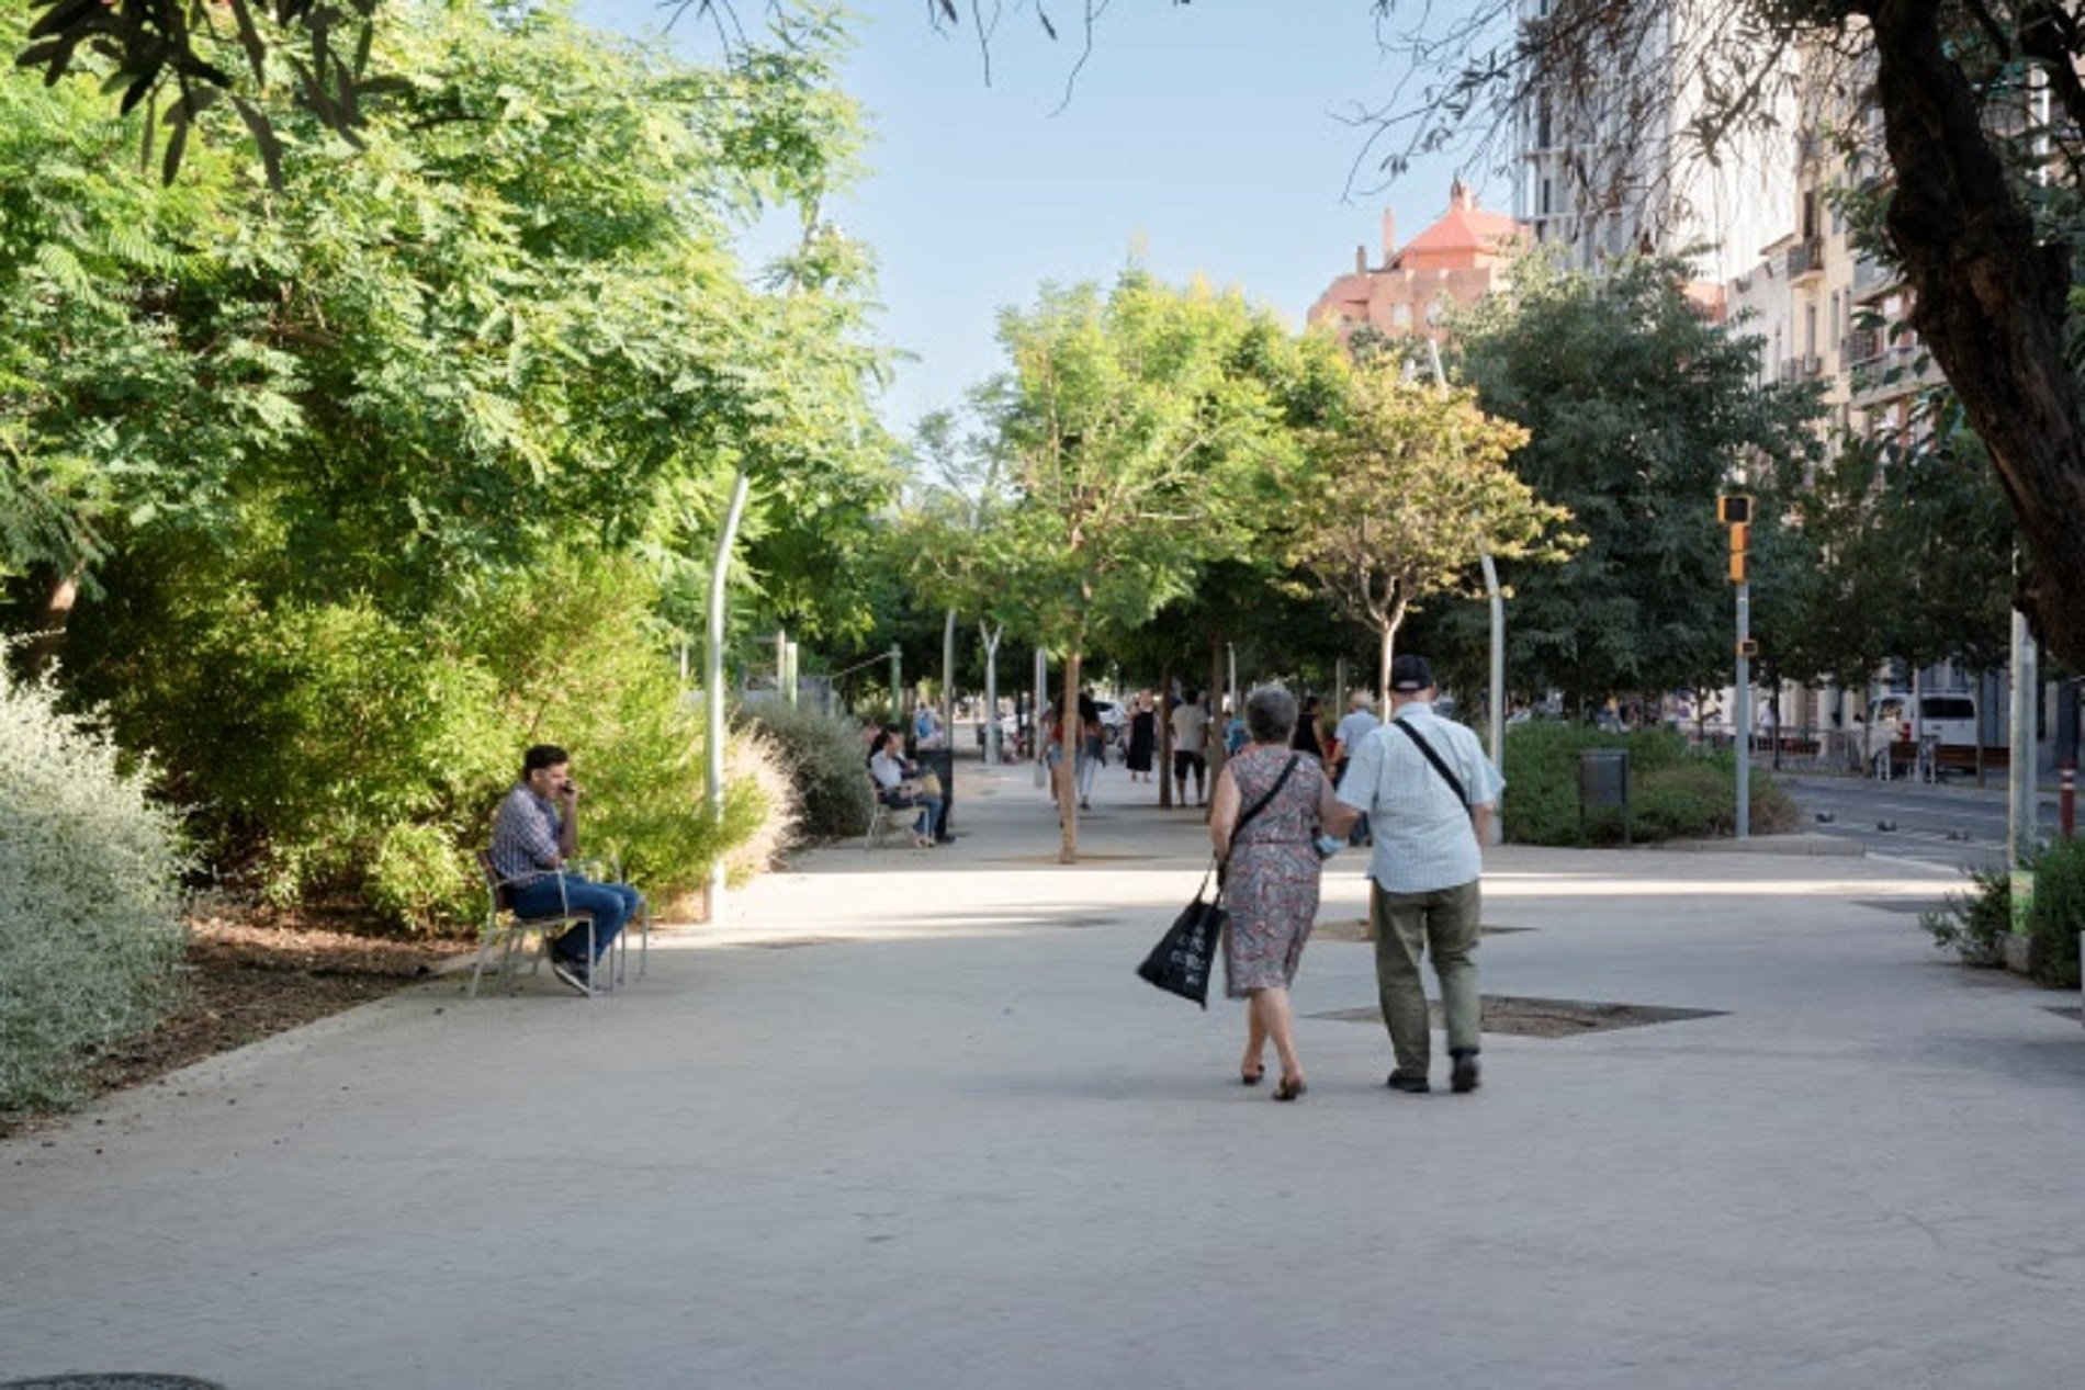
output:
[[[1289,748],[1253,744],[1226,767],[1238,781],[1238,811],[1266,796],[1282,775]],[[1299,756],[1282,790],[1261,806],[1230,842],[1230,871],[1224,879],[1224,907],[1230,909],[1230,929],[1224,934],[1224,992],[1245,998],[1253,990],[1282,990],[1297,977],[1303,942],[1318,919],[1318,796],[1324,769],[1311,756]]]

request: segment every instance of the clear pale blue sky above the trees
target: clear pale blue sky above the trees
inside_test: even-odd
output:
[[[1115,0],[1053,115],[1080,50],[1065,27],[1076,6],[1049,6],[1051,42],[1032,4],[1007,0],[990,85],[967,0],[949,35],[928,27],[922,0],[874,0],[853,25],[844,85],[876,131],[874,175],[830,215],[876,250],[884,342],[919,358],[901,363],[884,402],[894,429],[997,371],[997,311],[1047,281],[1107,281],[1134,256],[1301,325],[1357,244],[1374,260],[1384,208],[1403,242],[1447,206],[1449,160],[1380,194],[1364,169],[1349,196],[1364,133],[1339,115],[1401,75],[1368,0]],[[659,8],[582,0],[580,15],[644,33]],[[1466,177],[1487,206],[1510,210],[1505,185],[1480,173]]]

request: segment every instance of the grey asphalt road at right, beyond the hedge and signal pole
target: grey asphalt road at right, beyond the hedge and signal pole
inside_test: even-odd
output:
[[[1922,781],[1783,775],[1781,786],[1804,809],[1804,829],[1860,840],[1870,857],[1974,869],[1997,869],[2006,861],[2004,779],[1977,790]],[[2054,788],[2041,798],[2041,831],[2056,834]]]

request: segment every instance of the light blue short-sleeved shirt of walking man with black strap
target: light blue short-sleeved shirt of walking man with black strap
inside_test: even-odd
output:
[[[1418,700],[1399,709],[1397,719],[1455,771],[1472,806],[1499,800],[1505,777],[1485,756],[1476,734],[1441,719],[1430,704]],[[1434,892],[1482,877],[1485,854],[1470,827],[1470,809],[1455,800],[1447,777],[1397,729],[1382,725],[1362,740],[1339,784],[1339,800],[1368,813],[1376,840],[1368,873],[1382,892]]]

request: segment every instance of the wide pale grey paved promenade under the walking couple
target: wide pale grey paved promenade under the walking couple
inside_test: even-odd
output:
[[[1487,994],[1716,1013],[1401,1096],[1328,932],[1274,1104],[1238,1004],[1130,973],[1195,813],[1109,769],[1063,869],[1026,769],[957,790],[957,846],[809,854],[615,998],[444,979],[0,1144],[0,1382],[2077,1382],[2085,1029],[1931,948],[1947,875],[1497,850]]]

